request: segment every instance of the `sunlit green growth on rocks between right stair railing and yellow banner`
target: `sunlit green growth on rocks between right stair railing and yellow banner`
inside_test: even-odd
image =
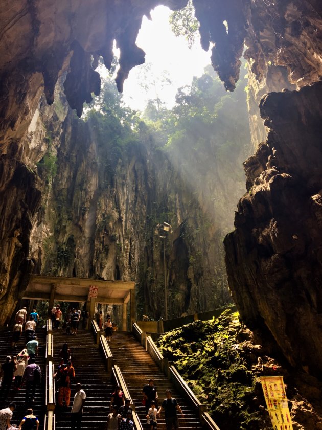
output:
[[[174,362],[195,395],[207,404],[220,428],[266,430],[269,417],[263,417],[252,399],[258,381],[257,357],[246,359],[250,342],[243,350],[238,312],[224,311],[219,318],[195,321],[162,335],[158,347]],[[255,351],[258,351],[258,349]],[[262,399],[264,401],[264,397]],[[252,426],[248,426],[252,422]],[[255,424],[254,424],[255,423]]]

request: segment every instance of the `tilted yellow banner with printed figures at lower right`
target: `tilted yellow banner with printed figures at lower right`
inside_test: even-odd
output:
[[[274,430],[293,430],[283,376],[262,376],[266,406]]]

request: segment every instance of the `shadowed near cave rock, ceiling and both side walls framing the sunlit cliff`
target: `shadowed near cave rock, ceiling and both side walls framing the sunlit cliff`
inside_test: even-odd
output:
[[[91,93],[99,93],[94,69],[100,55],[110,66],[114,39],[121,49],[117,83],[122,89],[131,67],[144,62],[143,51],[135,46],[141,18],[158,3],[6,0],[2,5],[0,322],[23,291],[33,264],[29,237],[41,205],[41,185],[30,166],[42,155],[33,147],[32,135],[27,136],[29,143],[25,138],[40,96],[44,92],[47,102],[53,103],[56,81],[66,73],[65,95],[80,115],[83,102],[91,99]],[[172,9],[185,5],[183,0],[162,3]],[[280,81],[270,88],[277,73],[289,85],[302,88],[297,93],[271,94],[261,103],[269,137],[245,163],[249,192],[239,203],[236,231],[226,239],[227,267],[242,318],[250,326],[268,329],[292,364],[319,372],[320,84],[307,85],[322,76],[322,4],[202,0],[195,2],[195,8],[202,46],[214,43],[212,62],[227,89],[234,89],[238,80],[244,42],[245,57],[260,82],[254,100],[264,88],[280,89]],[[262,140],[263,134],[259,135]],[[98,198],[94,189],[93,198]],[[90,208],[84,208],[90,230]],[[74,246],[72,240],[68,243]],[[301,297],[301,302],[291,302],[290,297]],[[294,327],[301,346],[293,342]],[[308,328],[312,331],[306,337]]]

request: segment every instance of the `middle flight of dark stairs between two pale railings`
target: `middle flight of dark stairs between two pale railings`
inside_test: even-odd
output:
[[[78,330],[77,335],[67,335],[64,330],[53,330],[54,364],[58,366],[58,354],[67,342],[71,350],[75,378],[71,383],[71,403],[69,408],[56,406],[56,430],[71,428],[71,409],[75,387],[81,383],[86,393],[86,402],[82,417],[82,428],[104,428],[109,414],[110,395],[114,386],[103,364],[102,355],[88,330]],[[57,401],[56,401],[57,404]]]

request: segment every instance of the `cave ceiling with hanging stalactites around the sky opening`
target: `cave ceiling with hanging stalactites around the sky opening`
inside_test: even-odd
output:
[[[0,13],[0,143],[6,147],[24,134],[43,91],[53,103],[63,73],[68,103],[80,116],[83,103],[100,92],[95,67],[102,56],[110,68],[114,40],[121,52],[116,82],[122,92],[129,71],[145,61],[135,44],[142,17],[160,4],[177,10],[186,1],[5,0]],[[239,78],[244,43],[259,80],[270,63],[285,66],[290,82],[300,87],[322,75],[321,2],[198,0],[194,6],[201,45],[211,47],[213,67],[227,90]]]

